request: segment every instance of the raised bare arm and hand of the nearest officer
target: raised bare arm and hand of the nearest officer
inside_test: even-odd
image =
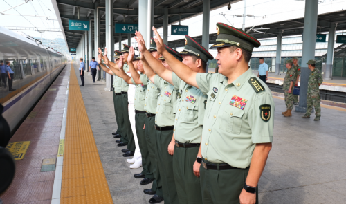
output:
[[[172,68],[174,73],[176,73],[176,75],[178,75],[178,77],[181,78],[181,80],[183,80],[184,82],[199,88],[197,84],[197,80],[196,80],[197,72],[192,71],[191,68],[183,64],[183,62],[180,62],[170,53],[168,53],[168,51],[165,49],[165,46],[163,44],[163,39],[160,37],[160,35],[158,34],[154,26],[152,30],[154,30],[154,33],[156,35],[156,38],[154,40],[156,42],[156,49],[158,50],[158,53],[161,53],[161,55],[163,55],[167,64],[170,65],[170,68]]]

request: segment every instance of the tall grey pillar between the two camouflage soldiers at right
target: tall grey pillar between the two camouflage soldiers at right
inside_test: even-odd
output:
[[[304,15],[304,36],[302,48],[302,75],[300,75],[300,95],[299,106],[295,106],[296,112],[305,113],[307,111],[307,84],[311,71],[307,67],[310,59],[315,59],[316,29],[317,29],[318,1],[305,1]]]

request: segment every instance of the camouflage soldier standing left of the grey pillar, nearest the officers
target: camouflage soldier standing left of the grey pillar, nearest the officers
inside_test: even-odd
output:
[[[286,76],[284,77],[284,85],[282,86],[282,89],[284,90],[284,102],[286,103],[287,110],[285,112],[282,112],[282,115],[284,117],[291,117],[292,116],[292,109],[293,109],[293,84],[295,83],[296,74],[295,69],[292,68],[293,62],[291,59],[286,60],[286,68],[288,69],[286,72]]]

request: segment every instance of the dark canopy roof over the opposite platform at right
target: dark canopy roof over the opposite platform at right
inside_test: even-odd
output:
[[[333,24],[338,24],[336,26],[336,30],[346,30],[346,10],[338,11],[338,12],[330,12],[326,14],[318,15],[317,18],[317,33],[328,32],[329,28]],[[246,28],[245,30],[249,30],[251,27]],[[255,28],[268,28],[268,29],[260,29],[254,30]],[[304,18],[300,19],[290,19],[286,21],[275,22],[271,24],[263,24],[255,26],[250,32],[248,32],[251,36],[257,39],[264,39],[269,37],[277,37],[277,35],[282,34],[282,36],[290,36],[290,35],[302,35],[304,30]],[[202,36],[192,37],[195,41],[201,43]],[[215,33],[211,33],[209,35],[209,44],[215,44],[215,40],[217,39],[217,33],[215,29]],[[183,47],[185,46],[185,39],[177,39],[174,41],[169,41],[168,46],[170,47]]]

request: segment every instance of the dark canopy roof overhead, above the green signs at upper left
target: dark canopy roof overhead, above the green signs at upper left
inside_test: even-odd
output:
[[[95,8],[100,10],[100,44],[105,42],[105,0],[51,0],[60,27],[64,33],[66,44],[70,48],[76,48],[85,31],[69,30],[69,19],[91,20],[92,35],[94,35],[93,19]],[[113,0],[114,22],[135,24],[138,23],[138,1],[139,0]],[[179,22],[203,12],[203,0],[153,0],[154,2],[154,26],[163,26],[163,8],[168,8],[168,24]],[[228,3],[236,3],[241,0],[217,0],[210,1],[210,10],[215,10]],[[133,37],[134,35],[131,35]],[[92,36],[93,37],[93,36]],[[114,35],[114,42],[119,41],[119,35]],[[127,34],[122,34],[122,40],[127,39]]]

